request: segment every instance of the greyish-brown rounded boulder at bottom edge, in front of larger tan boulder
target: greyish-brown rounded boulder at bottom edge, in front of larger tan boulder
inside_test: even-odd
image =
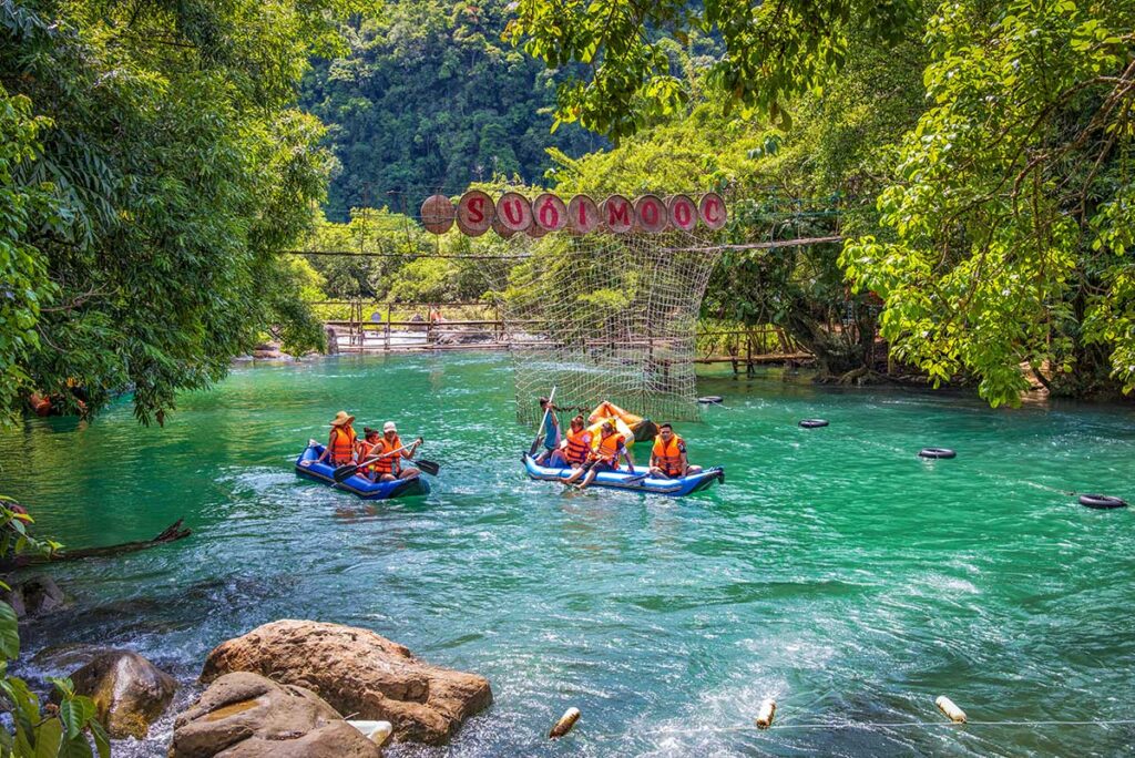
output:
[[[169,758],[378,758],[377,744],[311,690],[237,672],[174,722]]]

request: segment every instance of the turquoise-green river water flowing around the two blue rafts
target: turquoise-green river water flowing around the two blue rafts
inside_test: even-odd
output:
[[[0,491],[69,545],[194,529],[56,568],[75,605],[27,630],[30,652],[129,646],[188,683],[263,622],[367,626],[490,680],[461,756],[1129,750],[1130,726],[734,728],[766,697],[783,726],[941,722],[940,693],[974,721],[1135,717],[1133,514],[1059,491],[1135,500],[1129,406],[708,378],[728,407],[679,431],[728,481],[671,500],[528,481],[511,381],[506,357],[468,354],[244,368],[163,430],[124,405],[0,437]],[[368,506],[296,479],[339,409],[422,433],[434,492]],[[958,457],[917,458],[930,445]],[[549,744],[569,706],[583,718]],[[167,718],[120,747],[160,756],[168,736]]]

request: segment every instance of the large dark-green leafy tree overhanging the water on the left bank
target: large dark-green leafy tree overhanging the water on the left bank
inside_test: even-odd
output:
[[[17,201],[0,254],[23,281],[0,306],[18,311],[0,327],[0,414],[32,390],[78,410],[79,388],[96,411],[129,389],[160,423],[274,325],[321,345],[277,251],[330,168],[321,125],[293,108],[299,79],[354,8],[0,3],[0,178]]]

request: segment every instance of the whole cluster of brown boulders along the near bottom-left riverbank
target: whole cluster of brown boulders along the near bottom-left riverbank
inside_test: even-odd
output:
[[[50,580],[26,580],[10,597],[25,595],[51,598],[34,606],[47,616],[35,623],[66,608]],[[271,622],[221,642],[199,673],[84,643],[41,650],[32,664],[69,676],[114,740],[161,741],[170,758],[368,758],[387,739],[443,746],[493,701],[482,676],[426,663],[365,629],[312,621]]]

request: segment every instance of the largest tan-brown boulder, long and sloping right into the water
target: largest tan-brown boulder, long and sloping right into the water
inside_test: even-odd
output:
[[[259,626],[215,648],[201,681],[234,671],[308,688],[340,714],[388,721],[397,741],[444,744],[493,702],[484,676],[431,666],[397,642],[340,624],[285,620]]]

